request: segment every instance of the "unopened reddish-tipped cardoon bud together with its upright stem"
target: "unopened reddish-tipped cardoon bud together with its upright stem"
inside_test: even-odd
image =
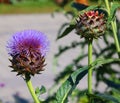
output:
[[[77,34],[88,42],[88,65],[90,65],[92,63],[92,41],[105,34],[106,19],[103,13],[90,10],[81,14],[76,21]],[[88,92],[92,93],[92,68],[88,70]]]

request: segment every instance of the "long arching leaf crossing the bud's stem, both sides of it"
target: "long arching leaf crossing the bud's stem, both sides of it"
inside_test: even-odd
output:
[[[103,64],[111,63],[114,61],[120,61],[120,59],[99,58],[95,60],[90,66],[85,66],[74,71],[58,89],[53,103],[66,103],[68,96],[71,95],[72,91],[75,89],[79,81],[87,74],[90,67],[94,69],[98,66],[102,66]]]

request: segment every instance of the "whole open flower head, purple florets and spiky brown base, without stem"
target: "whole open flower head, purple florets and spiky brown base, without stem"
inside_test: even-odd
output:
[[[45,55],[49,49],[47,37],[35,30],[14,34],[7,44],[13,71],[18,75],[34,75],[43,71]]]

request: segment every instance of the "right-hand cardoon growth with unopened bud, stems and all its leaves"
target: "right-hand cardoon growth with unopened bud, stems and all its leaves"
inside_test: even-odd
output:
[[[74,49],[78,46],[80,47],[79,56],[71,61],[71,63],[68,64],[64,68],[64,70],[59,73],[60,75],[58,75],[58,77],[55,79],[56,83],[58,83],[61,82],[61,80],[64,80],[65,77],[69,75],[68,79],[65,80],[65,82],[58,89],[55,95],[55,102],[53,103],[67,103],[68,96],[71,96],[72,99],[78,99],[77,102],[75,101],[71,103],[120,103],[120,99],[116,98],[117,95],[115,95],[115,97],[112,94],[117,94],[117,90],[120,89],[118,76],[119,70],[116,71],[113,69],[112,66],[110,66],[111,64],[116,62],[118,65],[120,65],[120,41],[118,39],[119,34],[117,32],[117,23],[115,18],[115,12],[117,8],[120,7],[120,5],[110,1],[99,0],[98,5],[96,3],[96,5],[94,6],[87,6],[85,8],[83,8],[79,2],[77,2],[77,5],[75,4],[76,2],[73,2],[72,7],[76,9],[73,11],[71,10],[71,16],[73,17],[73,19],[70,21],[70,23],[67,22],[62,25],[58,32],[57,40],[63,38],[64,36],[67,36],[69,33],[71,33],[72,30],[75,30],[75,33],[85,40],[73,41],[70,46],[60,46],[59,52],[55,55],[55,58],[59,58],[59,56],[64,52],[70,49]],[[66,12],[66,15],[67,14],[69,15],[69,13]],[[74,34],[72,34],[72,36],[74,36]],[[110,41],[111,38],[109,37],[114,38],[114,43],[111,43],[112,41]],[[96,41],[103,39],[102,45],[98,42],[95,42],[95,46],[97,45],[98,47],[95,48],[95,46],[92,44],[94,39],[96,39]],[[105,48],[103,47],[104,43],[107,45]],[[84,51],[86,51],[86,45],[88,47],[88,52],[84,53]],[[115,50],[119,56],[118,58],[114,56],[114,54],[116,54]],[[94,61],[92,60],[93,55],[95,57]],[[87,56],[88,65],[84,66],[83,64],[81,64],[81,61]],[[94,71],[95,68],[97,69]],[[110,87],[116,89],[116,91],[111,90],[111,92],[108,93],[108,90],[105,90],[104,93],[101,93],[101,91],[94,90],[92,88],[93,71],[96,73],[95,78],[97,83],[102,81],[108,86],[108,88]],[[76,89],[79,81],[86,74],[88,74],[87,89]],[[109,75],[109,77],[106,77],[106,74],[107,76]],[[114,81],[115,79],[116,81],[118,81],[117,83],[116,81]],[[83,95],[87,97],[87,102],[80,101]]]

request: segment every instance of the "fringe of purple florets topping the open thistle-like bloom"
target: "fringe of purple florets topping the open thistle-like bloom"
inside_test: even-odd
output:
[[[49,49],[49,41],[40,31],[25,30],[14,34],[8,42],[7,48],[11,56],[30,49],[37,50],[42,56],[45,56]]]

